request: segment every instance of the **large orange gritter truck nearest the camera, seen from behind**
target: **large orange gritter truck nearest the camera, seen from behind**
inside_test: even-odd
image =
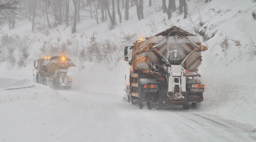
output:
[[[198,107],[203,101],[204,84],[198,77],[201,51],[208,48],[198,36],[176,26],[157,35],[126,46],[132,49],[130,86],[127,100],[140,109],[158,105],[182,105],[184,109]]]

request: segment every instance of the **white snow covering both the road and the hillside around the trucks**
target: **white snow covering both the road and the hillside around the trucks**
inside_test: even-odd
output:
[[[178,4],[176,0],[177,8]],[[256,141],[256,58],[248,53],[250,41],[256,42],[256,20],[252,18],[256,3],[190,0],[190,17],[183,20],[183,14],[174,12],[169,21],[162,11],[156,12],[159,1],[147,5],[144,1],[143,20],[137,20],[134,6],[130,19],[113,30],[108,22],[96,25],[88,19],[78,23],[73,35],[64,25],[48,29],[49,34],[30,32],[28,20],[16,22],[11,31],[8,25],[2,26],[2,34],[28,35],[32,42],[25,67],[0,62],[0,141]],[[199,22],[203,26],[199,27]],[[81,69],[79,59],[71,56],[77,64],[68,72],[74,79],[71,90],[53,90],[34,82],[32,67],[42,56],[39,49],[44,41],[55,45],[71,39],[81,49],[95,33],[98,42],[132,45],[140,37],[150,37],[172,25],[194,34],[205,33],[201,39],[208,50],[202,53],[199,73],[206,89],[197,110],[140,110],[125,102],[124,78],[129,65],[123,60],[118,64],[85,61],[85,69]]]

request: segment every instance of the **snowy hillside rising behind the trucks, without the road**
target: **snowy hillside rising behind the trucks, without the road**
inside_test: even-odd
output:
[[[200,80],[206,85],[204,102],[199,110],[210,111],[248,123],[252,127],[254,126],[253,130],[255,130],[256,75],[254,72],[256,58],[250,57],[249,48],[251,47],[250,42],[256,42],[256,20],[252,17],[252,12],[256,10],[256,3],[252,3],[250,0],[212,0],[206,4],[203,1],[190,0],[187,3],[188,18],[183,20],[183,14],[179,15],[178,12],[174,12],[172,18],[167,20],[166,14],[162,14],[162,11],[157,12],[160,10],[161,1],[155,1],[152,7],[147,7],[148,1],[144,1],[145,18],[143,20],[138,21],[136,7],[133,6],[130,8],[130,19],[117,23],[113,30],[109,30],[110,22],[97,25],[96,21],[92,19],[82,19],[77,25],[78,32],[75,34],[71,34],[70,28],[65,25],[55,29],[31,32],[32,24],[28,20],[18,21],[15,29],[11,31],[8,30],[8,25],[4,25],[1,27],[2,35],[27,35],[31,40],[31,47],[25,67],[12,66],[8,61],[0,63],[0,82],[6,82],[6,84],[1,83],[0,85],[3,84],[3,87],[6,87],[7,84],[11,85],[12,82],[17,81],[16,79],[33,81],[33,61],[42,56],[40,48],[43,47],[44,41],[52,45],[70,41],[72,45],[68,47],[70,53],[67,54],[77,65],[77,67],[70,68],[68,72],[69,76],[74,79],[72,90],[123,96],[125,93],[123,91],[124,78],[129,74],[128,63],[121,59],[119,62],[105,64],[104,62],[95,62],[97,60],[94,59],[92,62],[88,60],[83,62],[85,69],[81,69],[81,61],[78,56],[72,56],[74,47],[78,50],[86,48],[94,33],[97,42],[104,43],[110,40],[123,48],[125,45],[132,45],[141,37],[150,37],[175,25],[193,34],[199,35],[196,33],[199,31],[200,35],[204,35],[201,36],[202,44],[208,47],[208,50],[202,54],[203,61],[199,67],[199,73],[202,76]],[[178,4],[179,2],[176,0],[177,9]],[[202,23],[201,26],[199,26],[200,23]],[[18,60],[18,51],[15,52],[15,55]],[[6,81],[3,78],[12,79]],[[17,90],[15,93],[33,96],[36,92],[28,90],[26,92]],[[53,90],[42,85],[36,86],[36,90],[43,94],[45,92],[55,94]],[[8,91],[1,90],[0,97],[5,94],[8,96]],[[3,99],[3,97],[1,98]],[[26,97],[25,99],[30,100]],[[41,99],[47,100],[47,98]],[[48,98],[48,100],[50,99]],[[10,106],[15,105],[14,103],[9,104]],[[7,105],[6,108],[10,106]]]

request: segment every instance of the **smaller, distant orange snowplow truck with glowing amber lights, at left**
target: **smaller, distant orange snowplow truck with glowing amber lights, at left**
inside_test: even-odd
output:
[[[35,60],[36,82],[50,87],[71,89],[73,79],[67,72],[72,66],[76,65],[66,56],[42,57]]]

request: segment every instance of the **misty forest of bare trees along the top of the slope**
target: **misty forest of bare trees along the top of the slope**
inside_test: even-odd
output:
[[[175,0],[168,0],[168,7],[166,0],[159,1],[162,2],[163,13],[168,15],[168,20],[171,19],[172,13],[176,11]],[[17,18],[27,18],[32,23],[32,31],[35,28],[43,30],[65,24],[70,26],[71,33],[76,33],[77,22],[81,19],[80,13],[85,11],[88,15],[83,17],[95,19],[97,24],[106,22],[109,18],[110,29],[113,29],[117,22],[129,20],[129,9],[133,6],[136,6],[138,20],[144,19],[143,3],[143,0],[1,0],[0,23],[9,23],[11,30],[15,28]],[[149,0],[150,6],[152,6],[152,0]],[[124,12],[123,16],[121,11]],[[187,17],[186,0],[179,0],[179,13],[183,12],[185,19]]]

